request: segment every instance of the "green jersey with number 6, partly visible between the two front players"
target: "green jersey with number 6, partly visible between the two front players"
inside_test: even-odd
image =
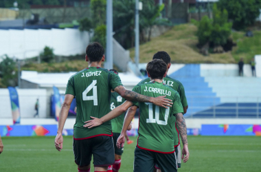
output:
[[[122,98],[120,94],[117,94],[117,92],[111,93],[111,106],[110,110],[112,111],[115,107],[122,105],[124,103],[125,98]],[[111,127],[113,128],[113,133],[120,133],[122,131],[122,125],[124,122],[124,114],[121,114],[120,116],[117,116],[116,118],[113,118],[111,120]]]

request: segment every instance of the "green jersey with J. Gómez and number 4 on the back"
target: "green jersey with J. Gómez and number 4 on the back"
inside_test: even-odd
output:
[[[83,127],[91,116],[101,118],[109,113],[111,89],[122,85],[120,77],[101,67],[89,67],[69,78],[65,94],[76,96],[77,116],[73,127],[74,139],[112,136],[111,121],[91,129]]]

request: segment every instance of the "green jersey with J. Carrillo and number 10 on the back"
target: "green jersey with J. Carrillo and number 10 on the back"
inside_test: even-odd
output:
[[[133,92],[151,97],[166,96],[172,100],[173,105],[168,109],[155,106],[152,103],[133,102],[133,104],[139,107],[137,147],[159,153],[173,153],[174,114],[183,113],[179,93],[163,83],[154,81],[136,85]]]

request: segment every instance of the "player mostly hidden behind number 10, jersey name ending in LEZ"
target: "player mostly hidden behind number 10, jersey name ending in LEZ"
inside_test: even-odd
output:
[[[156,54],[154,54],[153,59],[161,59],[163,60],[166,64],[167,64],[167,73],[168,73],[168,69],[170,69],[170,56],[168,55],[167,52],[157,52]],[[144,84],[144,83],[148,83],[150,82],[150,78],[145,78],[144,80],[141,80],[139,82],[139,84]],[[183,87],[183,85],[181,84],[181,82],[179,82],[179,80],[175,80],[173,78],[170,78],[170,76],[166,76],[165,78],[163,78],[163,83],[168,85],[169,87],[172,87],[172,89],[176,90],[177,92],[179,92],[179,96],[181,98],[181,104],[183,106],[183,111],[184,114],[187,112],[188,109],[188,102],[187,102],[187,98],[185,97],[185,89]],[[131,109],[129,109],[128,113],[135,113],[135,107],[131,107]],[[133,116],[134,114],[131,114],[131,116]],[[176,120],[174,120],[174,122],[176,122]],[[176,124],[175,124],[176,125]],[[176,128],[173,132],[174,134],[174,145],[175,145],[175,151],[176,151],[176,155],[177,155],[177,163],[179,168],[181,168],[181,145],[179,142],[179,132],[178,129]],[[157,164],[155,165],[157,172],[160,172],[160,169],[158,168]]]

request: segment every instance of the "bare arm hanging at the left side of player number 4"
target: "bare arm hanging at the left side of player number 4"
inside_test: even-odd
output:
[[[68,112],[73,101],[74,96],[71,94],[65,94],[65,101],[63,102],[62,108],[60,109],[59,121],[58,121],[58,131],[56,138],[54,140],[55,147],[58,151],[63,149],[63,127],[65,126],[65,121],[68,116]]]

